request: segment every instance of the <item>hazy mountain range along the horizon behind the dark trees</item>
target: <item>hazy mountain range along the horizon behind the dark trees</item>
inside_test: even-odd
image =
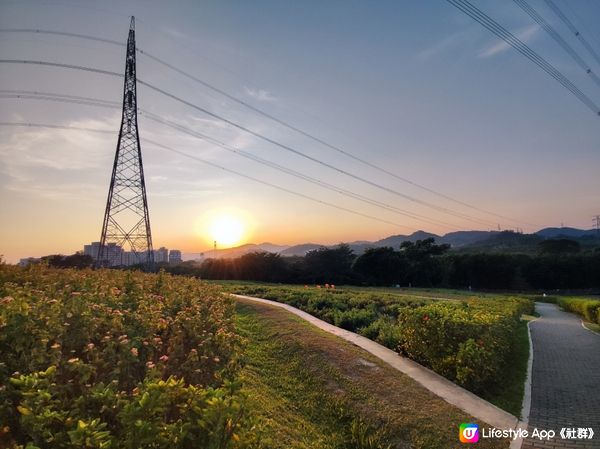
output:
[[[389,246],[398,248],[402,242],[416,242],[432,237],[437,244],[447,243],[452,249],[458,251],[493,251],[506,250],[507,248],[526,248],[535,246],[544,239],[552,238],[570,238],[584,239],[584,241],[593,241],[600,243],[598,231],[595,229],[576,229],[576,228],[544,228],[533,234],[520,234],[511,231],[456,231],[449,232],[442,236],[425,231],[416,231],[410,235],[392,235],[377,241],[360,240],[348,242],[348,245],[356,254],[361,254],[367,248],[377,248]],[[234,248],[225,248],[208,250],[204,253],[184,253],[183,260],[195,260],[209,257],[234,258],[244,254],[256,251],[266,251],[278,253],[284,257],[304,256],[308,251],[321,247],[331,247],[335,245],[322,245],[319,243],[302,243],[299,245],[277,245],[269,242],[265,243],[247,243]]]

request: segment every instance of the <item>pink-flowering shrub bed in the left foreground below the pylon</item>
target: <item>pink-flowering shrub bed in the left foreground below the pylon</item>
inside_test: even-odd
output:
[[[216,287],[0,264],[0,302],[0,447],[253,447]]]

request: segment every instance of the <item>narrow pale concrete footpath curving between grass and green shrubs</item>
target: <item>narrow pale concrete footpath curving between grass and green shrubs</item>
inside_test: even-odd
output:
[[[525,427],[523,423],[519,422],[519,420],[510,413],[501,410],[495,405],[485,401],[484,399],[481,399],[464,388],[459,387],[439,374],[434,373],[430,369],[427,369],[410,359],[402,357],[391,349],[369,340],[368,338],[336,327],[288,304],[282,304],[276,301],[270,301],[268,299],[254,298],[251,296],[233,296],[248,301],[280,307],[308,321],[319,329],[343,338],[344,340],[363,348],[393,368],[411,377],[429,391],[444,399],[446,402],[449,402],[450,404],[460,408],[466,413],[489,424],[492,427],[496,427],[498,429],[516,429],[518,427]],[[511,444],[511,448],[519,447],[520,443],[520,441],[515,441],[514,444]]]

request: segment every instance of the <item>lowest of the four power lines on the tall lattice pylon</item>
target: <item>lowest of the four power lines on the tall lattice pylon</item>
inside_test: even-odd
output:
[[[84,127],[78,127],[78,126],[49,125],[49,124],[45,124],[45,123],[0,122],[0,126],[16,126],[16,127],[25,127],[25,128],[65,129],[65,130],[75,130],[75,131],[98,132],[98,133],[104,133],[104,134],[114,134],[114,130],[111,131],[111,130],[104,130],[104,129],[84,128]],[[210,166],[212,166],[214,168],[218,168],[219,170],[223,170],[223,171],[226,171],[228,173],[232,173],[234,175],[241,176],[242,178],[246,178],[246,179],[249,179],[251,181],[257,182],[259,184],[263,184],[265,186],[272,187],[272,188],[277,189],[277,190],[281,190],[281,191],[289,193],[291,195],[295,195],[295,196],[298,196],[298,197],[301,197],[301,198],[304,198],[304,199],[307,199],[307,200],[310,200],[310,201],[313,201],[313,202],[316,202],[316,203],[319,203],[319,204],[322,204],[322,205],[325,205],[325,206],[328,206],[328,207],[333,207],[335,209],[338,209],[338,210],[341,210],[341,211],[344,211],[344,212],[348,212],[348,213],[351,213],[351,214],[354,214],[354,215],[358,215],[358,216],[361,216],[361,217],[364,217],[364,218],[369,218],[371,220],[379,221],[381,223],[386,223],[386,224],[389,224],[389,225],[392,225],[392,226],[401,227],[401,228],[405,228],[405,229],[409,229],[409,230],[414,230],[413,228],[409,228],[408,226],[401,225],[399,223],[394,223],[394,222],[391,222],[391,221],[388,221],[388,220],[385,220],[385,219],[382,219],[382,218],[375,217],[373,215],[369,215],[369,214],[365,214],[365,213],[362,213],[362,212],[358,212],[356,210],[349,209],[349,208],[346,208],[346,207],[343,207],[343,206],[340,206],[340,205],[337,205],[337,204],[334,204],[334,203],[329,203],[327,201],[323,201],[323,200],[320,200],[318,198],[314,198],[312,196],[305,195],[304,193],[296,192],[295,190],[291,190],[291,189],[288,189],[286,187],[282,187],[280,185],[273,184],[273,183],[265,181],[263,179],[255,178],[254,176],[250,176],[250,175],[247,175],[245,173],[241,173],[241,172],[238,172],[236,170],[233,170],[233,169],[224,167],[222,165],[216,164],[214,162],[207,161],[206,159],[202,159],[200,157],[197,157],[197,156],[185,153],[183,151],[176,150],[176,149],[171,148],[171,147],[169,147],[167,145],[163,145],[163,144],[161,144],[159,142],[156,142],[156,141],[153,141],[153,140],[150,140],[150,139],[147,139],[147,138],[142,138],[142,140],[144,142],[146,142],[146,143],[155,145],[155,146],[157,146],[159,148],[162,148],[162,149],[165,149],[167,151],[171,151],[173,153],[177,153],[177,154],[179,154],[181,156],[184,156],[184,157],[187,157],[189,159],[193,159],[195,161],[202,162],[203,164],[207,164],[207,165],[210,165]]]

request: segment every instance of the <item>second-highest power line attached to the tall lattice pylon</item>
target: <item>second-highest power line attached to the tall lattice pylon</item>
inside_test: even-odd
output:
[[[93,73],[100,73],[100,74],[103,74],[103,75],[122,77],[122,74],[117,73],[117,72],[111,72],[111,71],[108,71],[108,70],[96,69],[96,68],[92,68],[92,67],[80,66],[80,65],[74,65],[74,64],[64,64],[64,63],[57,63],[57,62],[49,62],[49,61],[0,59],[0,63],[6,63],[6,64],[33,64],[33,65],[41,65],[41,66],[49,66],[49,67],[59,67],[59,68],[73,69],[73,70],[83,70],[83,71],[86,71],[86,72],[93,72]],[[379,183],[376,183],[376,182],[371,181],[369,179],[363,178],[363,177],[361,177],[359,175],[356,175],[354,173],[348,172],[347,170],[344,170],[342,168],[336,167],[336,166],[334,166],[332,164],[324,162],[324,161],[322,161],[320,159],[317,159],[317,158],[315,158],[313,156],[309,156],[309,155],[303,153],[300,150],[297,150],[297,149],[295,149],[295,148],[293,148],[293,147],[291,147],[289,145],[286,145],[286,144],[278,142],[278,141],[276,141],[274,139],[271,139],[270,137],[267,137],[267,136],[265,136],[263,134],[260,134],[260,133],[258,133],[256,131],[253,131],[253,130],[251,130],[251,129],[243,126],[243,125],[240,125],[240,124],[238,124],[238,123],[236,123],[236,122],[234,122],[232,120],[229,120],[229,119],[227,119],[225,117],[222,117],[222,116],[220,116],[220,115],[218,115],[218,114],[216,114],[214,112],[211,112],[211,111],[209,111],[209,110],[207,110],[207,109],[205,109],[205,108],[203,108],[201,106],[198,106],[198,105],[196,105],[194,103],[191,103],[191,102],[189,102],[187,100],[184,100],[181,97],[178,97],[178,96],[176,96],[176,95],[174,95],[174,94],[172,94],[170,92],[165,91],[164,89],[161,89],[161,88],[159,88],[157,86],[154,86],[154,85],[152,85],[150,83],[147,83],[147,82],[145,82],[145,81],[143,81],[143,80],[141,80],[139,78],[137,79],[137,82],[139,84],[141,84],[141,85],[144,85],[144,86],[148,87],[151,90],[154,90],[155,92],[158,92],[158,93],[160,93],[160,94],[162,94],[162,95],[164,95],[166,97],[169,97],[169,98],[171,98],[171,99],[173,99],[173,100],[175,100],[175,101],[177,101],[177,102],[179,102],[181,104],[184,104],[184,105],[186,105],[186,106],[188,106],[190,108],[196,109],[196,110],[198,110],[198,111],[200,111],[200,112],[202,112],[202,113],[204,113],[204,114],[206,114],[206,115],[208,115],[210,117],[213,117],[213,118],[215,118],[217,120],[220,120],[220,121],[222,121],[224,123],[227,123],[228,125],[230,125],[230,126],[232,126],[234,128],[237,128],[237,129],[239,129],[241,131],[244,131],[244,132],[246,132],[246,133],[248,133],[250,135],[253,135],[253,136],[255,136],[255,137],[257,137],[257,138],[259,138],[259,139],[261,139],[261,140],[263,140],[265,142],[268,142],[268,143],[270,143],[272,145],[275,145],[275,146],[277,146],[277,147],[279,147],[279,148],[281,148],[281,149],[283,149],[285,151],[288,151],[290,153],[296,154],[297,156],[300,156],[300,157],[302,157],[304,159],[308,159],[308,160],[310,160],[312,162],[315,162],[315,163],[317,163],[319,165],[327,167],[327,168],[329,168],[331,170],[334,170],[334,171],[336,171],[338,173],[344,174],[344,175],[346,175],[348,177],[351,177],[353,179],[361,181],[361,182],[363,182],[365,184],[368,184],[368,185],[371,185],[373,187],[376,187],[376,188],[378,188],[380,190],[383,190],[383,191],[386,191],[388,193],[392,193],[394,195],[400,196],[400,197],[402,197],[404,199],[407,199],[407,200],[409,200],[411,202],[414,202],[414,203],[417,203],[417,204],[421,204],[423,206],[427,206],[427,207],[435,209],[435,210],[437,210],[439,212],[443,212],[443,213],[446,213],[448,215],[453,215],[453,216],[458,217],[458,218],[463,218],[463,219],[466,219],[466,220],[469,220],[469,221],[472,221],[472,222],[475,222],[475,223],[478,223],[478,224],[484,224],[486,226],[489,226],[489,224],[491,223],[489,220],[475,218],[475,217],[469,216],[467,214],[456,212],[454,210],[451,210],[451,209],[443,207],[443,206],[438,206],[438,205],[429,203],[427,201],[420,200],[418,198],[415,198],[415,197],[412,197],[410,195],[404,194],[404,193],[399,192],[397,190],[390,189],[390,188],[385,187],[385,186],[383,186],[383,185],[381,185]]]

